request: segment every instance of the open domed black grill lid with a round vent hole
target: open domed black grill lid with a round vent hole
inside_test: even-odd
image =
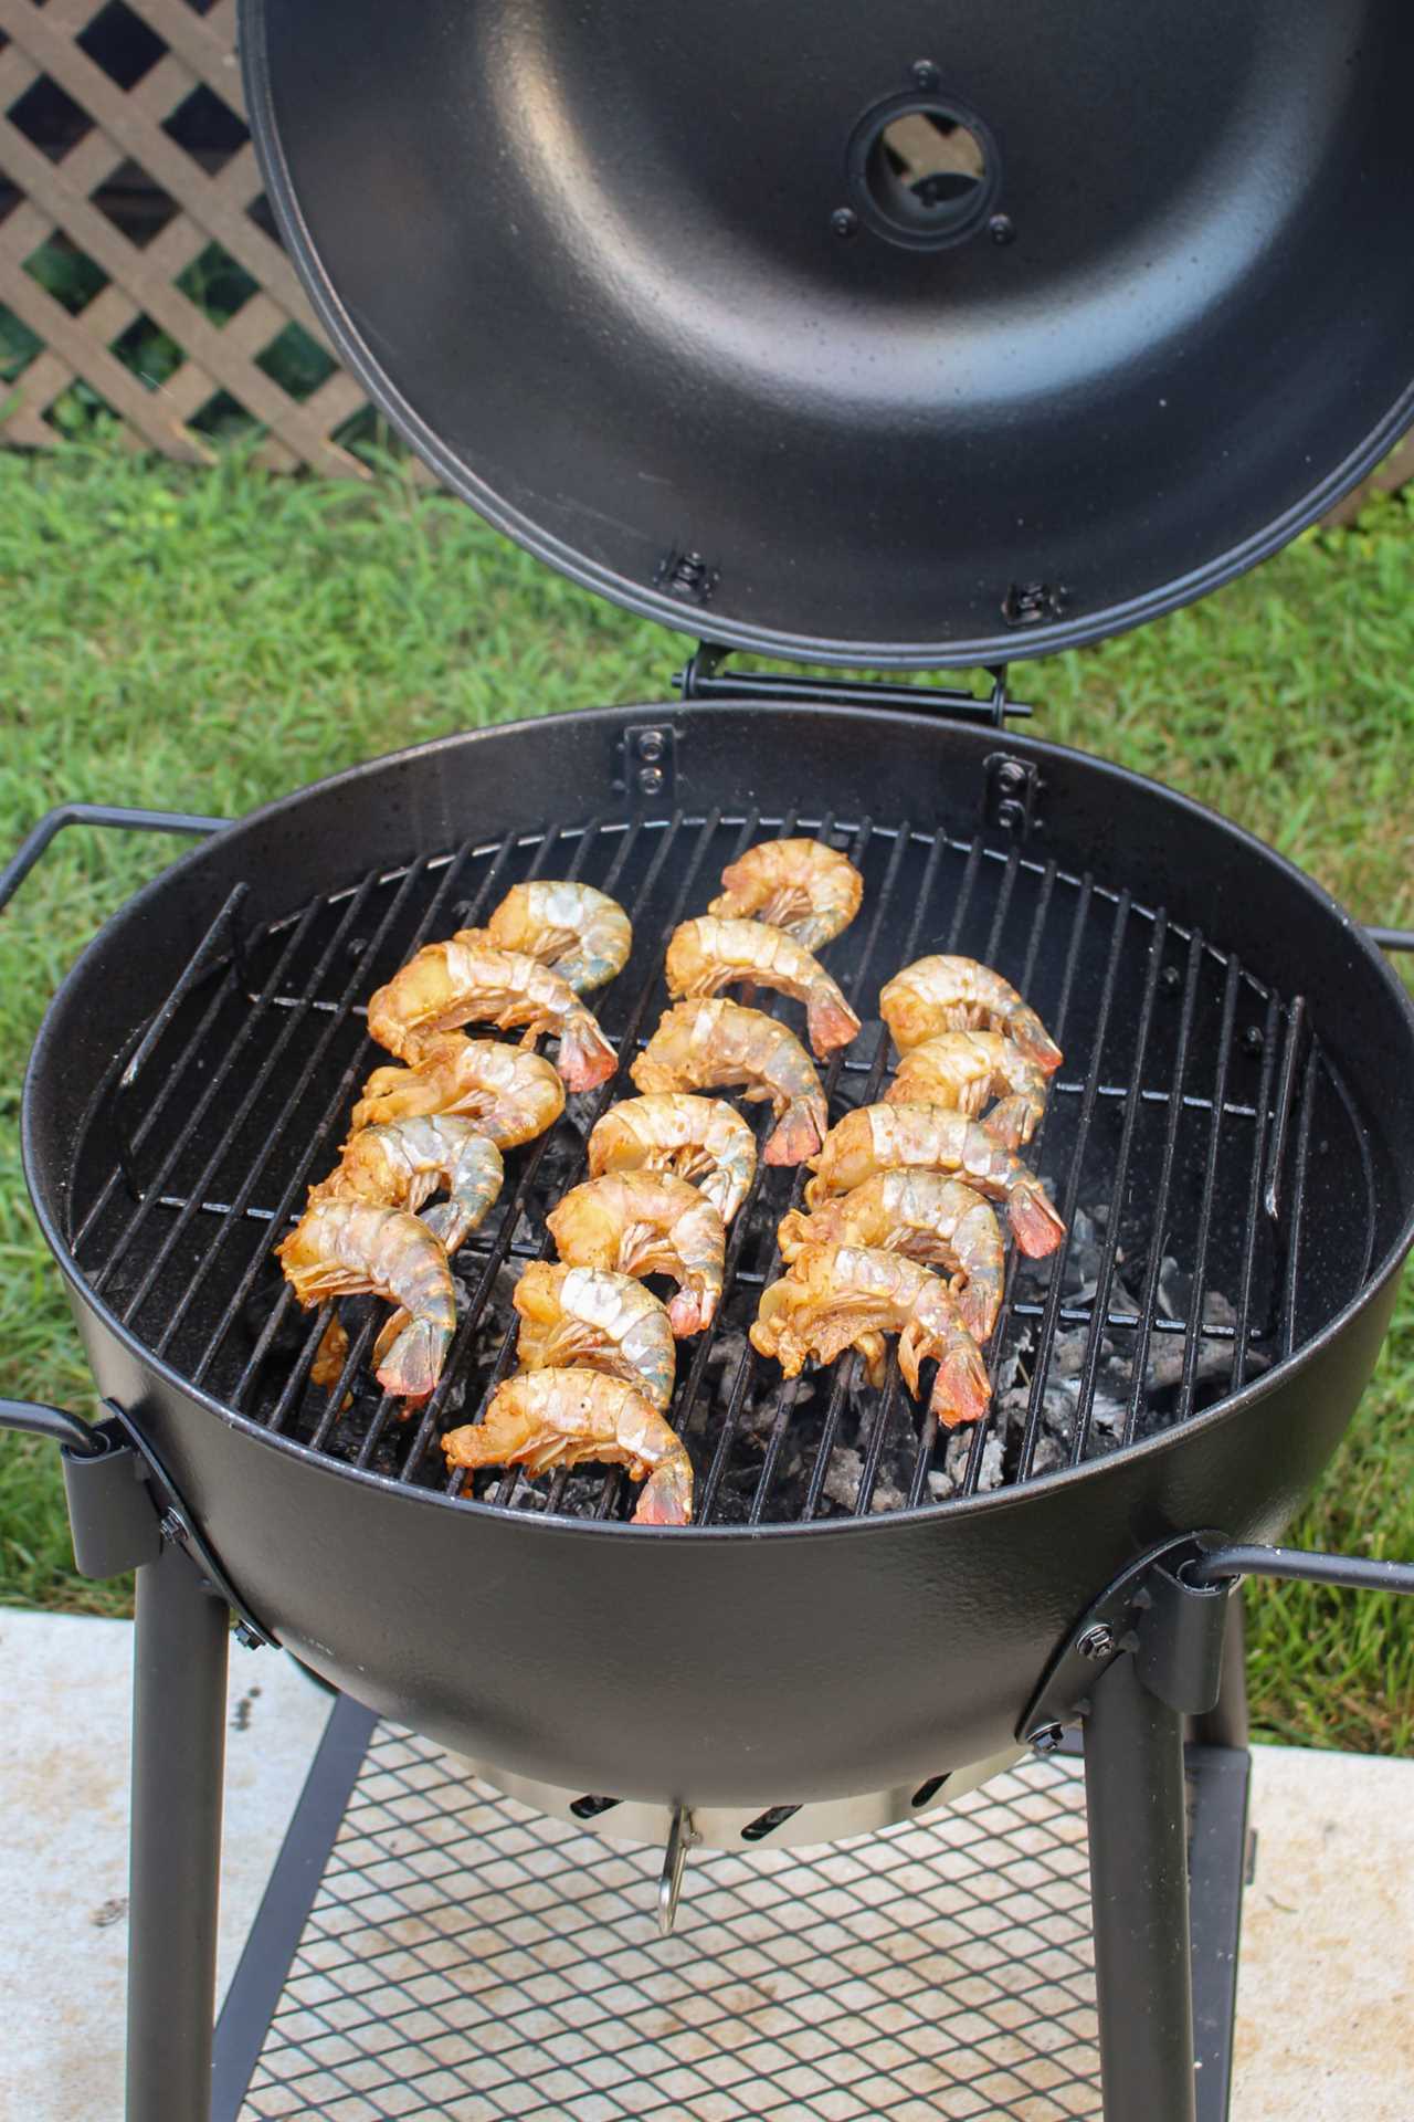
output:
[[[1414,414],[1408,0],[244,0],[343,356],[541,558],[992,662],[1272,552]]]

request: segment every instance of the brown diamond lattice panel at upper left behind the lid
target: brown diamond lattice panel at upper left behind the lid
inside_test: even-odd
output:
[[[244,414],[265,463],[365,477],[365,395],[269,233],[235,0],[0,0],[0,32],[4,437],[51,446],[87,384],[138,448],[208,463]]]

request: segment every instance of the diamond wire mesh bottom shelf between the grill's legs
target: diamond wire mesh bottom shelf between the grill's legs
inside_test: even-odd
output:
[[[659,1863],[379,1725],[242,2122],[1098,2118],[1077,1759],[941,1825],[700,1853],[666,1942]]]

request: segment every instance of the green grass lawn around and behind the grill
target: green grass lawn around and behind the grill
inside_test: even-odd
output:
[[[64,798],[237,813],[449,730],[661,698],[683,654],[396,471],[371,492],[267,480],[242,456],[184,475],[102,441],[0,456],[0,851]],[[1217,804],[1359,917],[1414,923],[1408,503],[1124,641],[1026,666],[1018,690],[1039,734]],[[23,1195],[19,1084],[57,976],[172,853],[70,830],[0,921],[0,1394],[93,1409]],[[1412,1468],[1406,1294],[1291,1538],[1414,1555]],[[72,1575],[53,1454],[0,1445],[0,1598],[112,1613],[125,1596]],[[1412,1611],[1253,1592],[1251,1645],[1270,1736],[1414,1742]]]

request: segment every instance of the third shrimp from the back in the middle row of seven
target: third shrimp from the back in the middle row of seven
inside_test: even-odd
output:
[[[810,1055],[784,1025],[740,1002],[678,1002],[634,1061],[640,1091],[710,1091],[744,1084],[746,1099],[770,1099],[776,1133],[767,1165],[799,1165],[829,1127],[825,1091]]]

